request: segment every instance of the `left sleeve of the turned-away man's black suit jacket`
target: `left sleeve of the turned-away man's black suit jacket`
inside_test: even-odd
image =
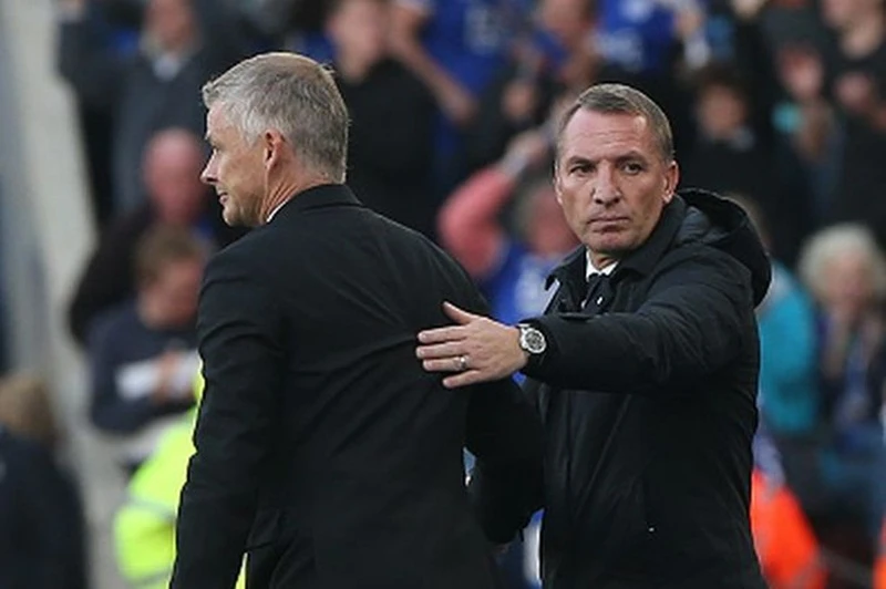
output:
[[[240,252],[213,259],[200,293],[206,388],[182,492],[173,589],[234,587],[279,414],[281,313]]]

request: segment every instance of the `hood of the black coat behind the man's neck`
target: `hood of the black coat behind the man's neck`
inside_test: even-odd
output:
[[[702,242],[729,254],[751,272],[754,304],[760,304],[772,280],[772,264],[750,217],[738,204],[699,189],[680,190],[686,215],[674,245]]]

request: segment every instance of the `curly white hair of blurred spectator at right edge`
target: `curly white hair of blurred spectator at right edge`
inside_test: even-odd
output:
[[[886,298],[886,258],[874,234],[864,225],[842,223],[813,235],[803,246],[797,270],[806,288],[818,299],[827,283],[827,267],[841,255],[863,254],[870,262],[870,278],[877,300]]]

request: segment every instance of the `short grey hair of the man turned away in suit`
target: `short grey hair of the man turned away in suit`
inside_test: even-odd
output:
[[[247,142],[276,128],[308,165],[344,182],[348,108],[316,61],[284,52],[249,58],[204,85],[203,102],[222,105]]]

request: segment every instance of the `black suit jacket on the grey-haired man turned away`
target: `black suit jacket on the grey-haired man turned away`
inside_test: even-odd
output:
[[[233,587],[244,551],[250,587],[493,587],[462,447],[516,506],[540,427],[509,380],[447,391],[422,370],[415,334],[449,323],[444,300],[484,310],[449,256],[340,185],[212,260],[173,588]]]

